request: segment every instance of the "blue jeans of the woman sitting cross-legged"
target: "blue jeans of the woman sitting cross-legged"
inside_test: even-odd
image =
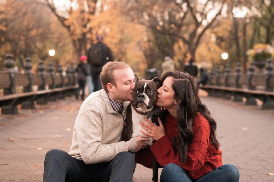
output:
[[[237,167],[231,164],[225,164],[194,181],[238,182],[239,178],[240,174]],[[180,166],[176,164],[167,164],[162,170],[160,182],[192,182],[192,180]]]

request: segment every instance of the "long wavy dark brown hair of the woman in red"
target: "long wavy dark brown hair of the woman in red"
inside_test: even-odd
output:
[[[211,117],[206,105],[201,103],[198,97],[198,89],[195,78],[188,73],[180,71],[170,71],[163,75],[162,82],[166,77],[173,77],[172,89],[174,90],[174,98],[180,104],[177,104],[176,118],[178,123],[179,134],[172,139],[172,147],[176,152],[180,152],[181,162],[187,159],[187,151],[190,146],[194,134],[192,130],[192,123],[200,112],[209,122],[211,143],[216,150],[219,147],[219,142],[216,137],[216,121]],[[167,113],[165,112],[164,115]],[[165,116],[164,116],[165,117]],[[163,121],[163,120],[162,120]]]

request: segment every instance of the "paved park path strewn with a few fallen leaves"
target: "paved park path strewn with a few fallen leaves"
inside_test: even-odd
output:
[[[217,121],[223,163],[239,168],[240,181],[274,181],[268,175],[274,173],[274,110],[201,99]],[[0,115],[0,181],[43,181],[46,152],[69,151],[80,105],[81,101],[67,98],[21,110],[17,116]],[[135,182],[151,181],[151,177],[152,169],[137,165]]]

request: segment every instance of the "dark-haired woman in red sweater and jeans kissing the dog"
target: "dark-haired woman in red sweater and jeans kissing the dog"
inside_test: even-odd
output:
[[[140,122],[142,132],[156,142],[136,154],[136,162],[151,168],[151,152],[164,166],[160,181],[239,181],[238,169],[223,165],[216,138],[216,122],[201,103],[193,76],[167,72],[158,89],[157,105],[166,108],[163,124]]]

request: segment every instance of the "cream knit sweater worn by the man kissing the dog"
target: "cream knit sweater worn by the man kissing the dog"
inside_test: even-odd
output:
[[[124,102],[125,109],[130,104]],[[106,91],[93,92],[80,107],[73,127],[70,156],[86,164],[107,162],[123,151],[133,152],[136,140],[122,140],[123,117],[113,110]]]

